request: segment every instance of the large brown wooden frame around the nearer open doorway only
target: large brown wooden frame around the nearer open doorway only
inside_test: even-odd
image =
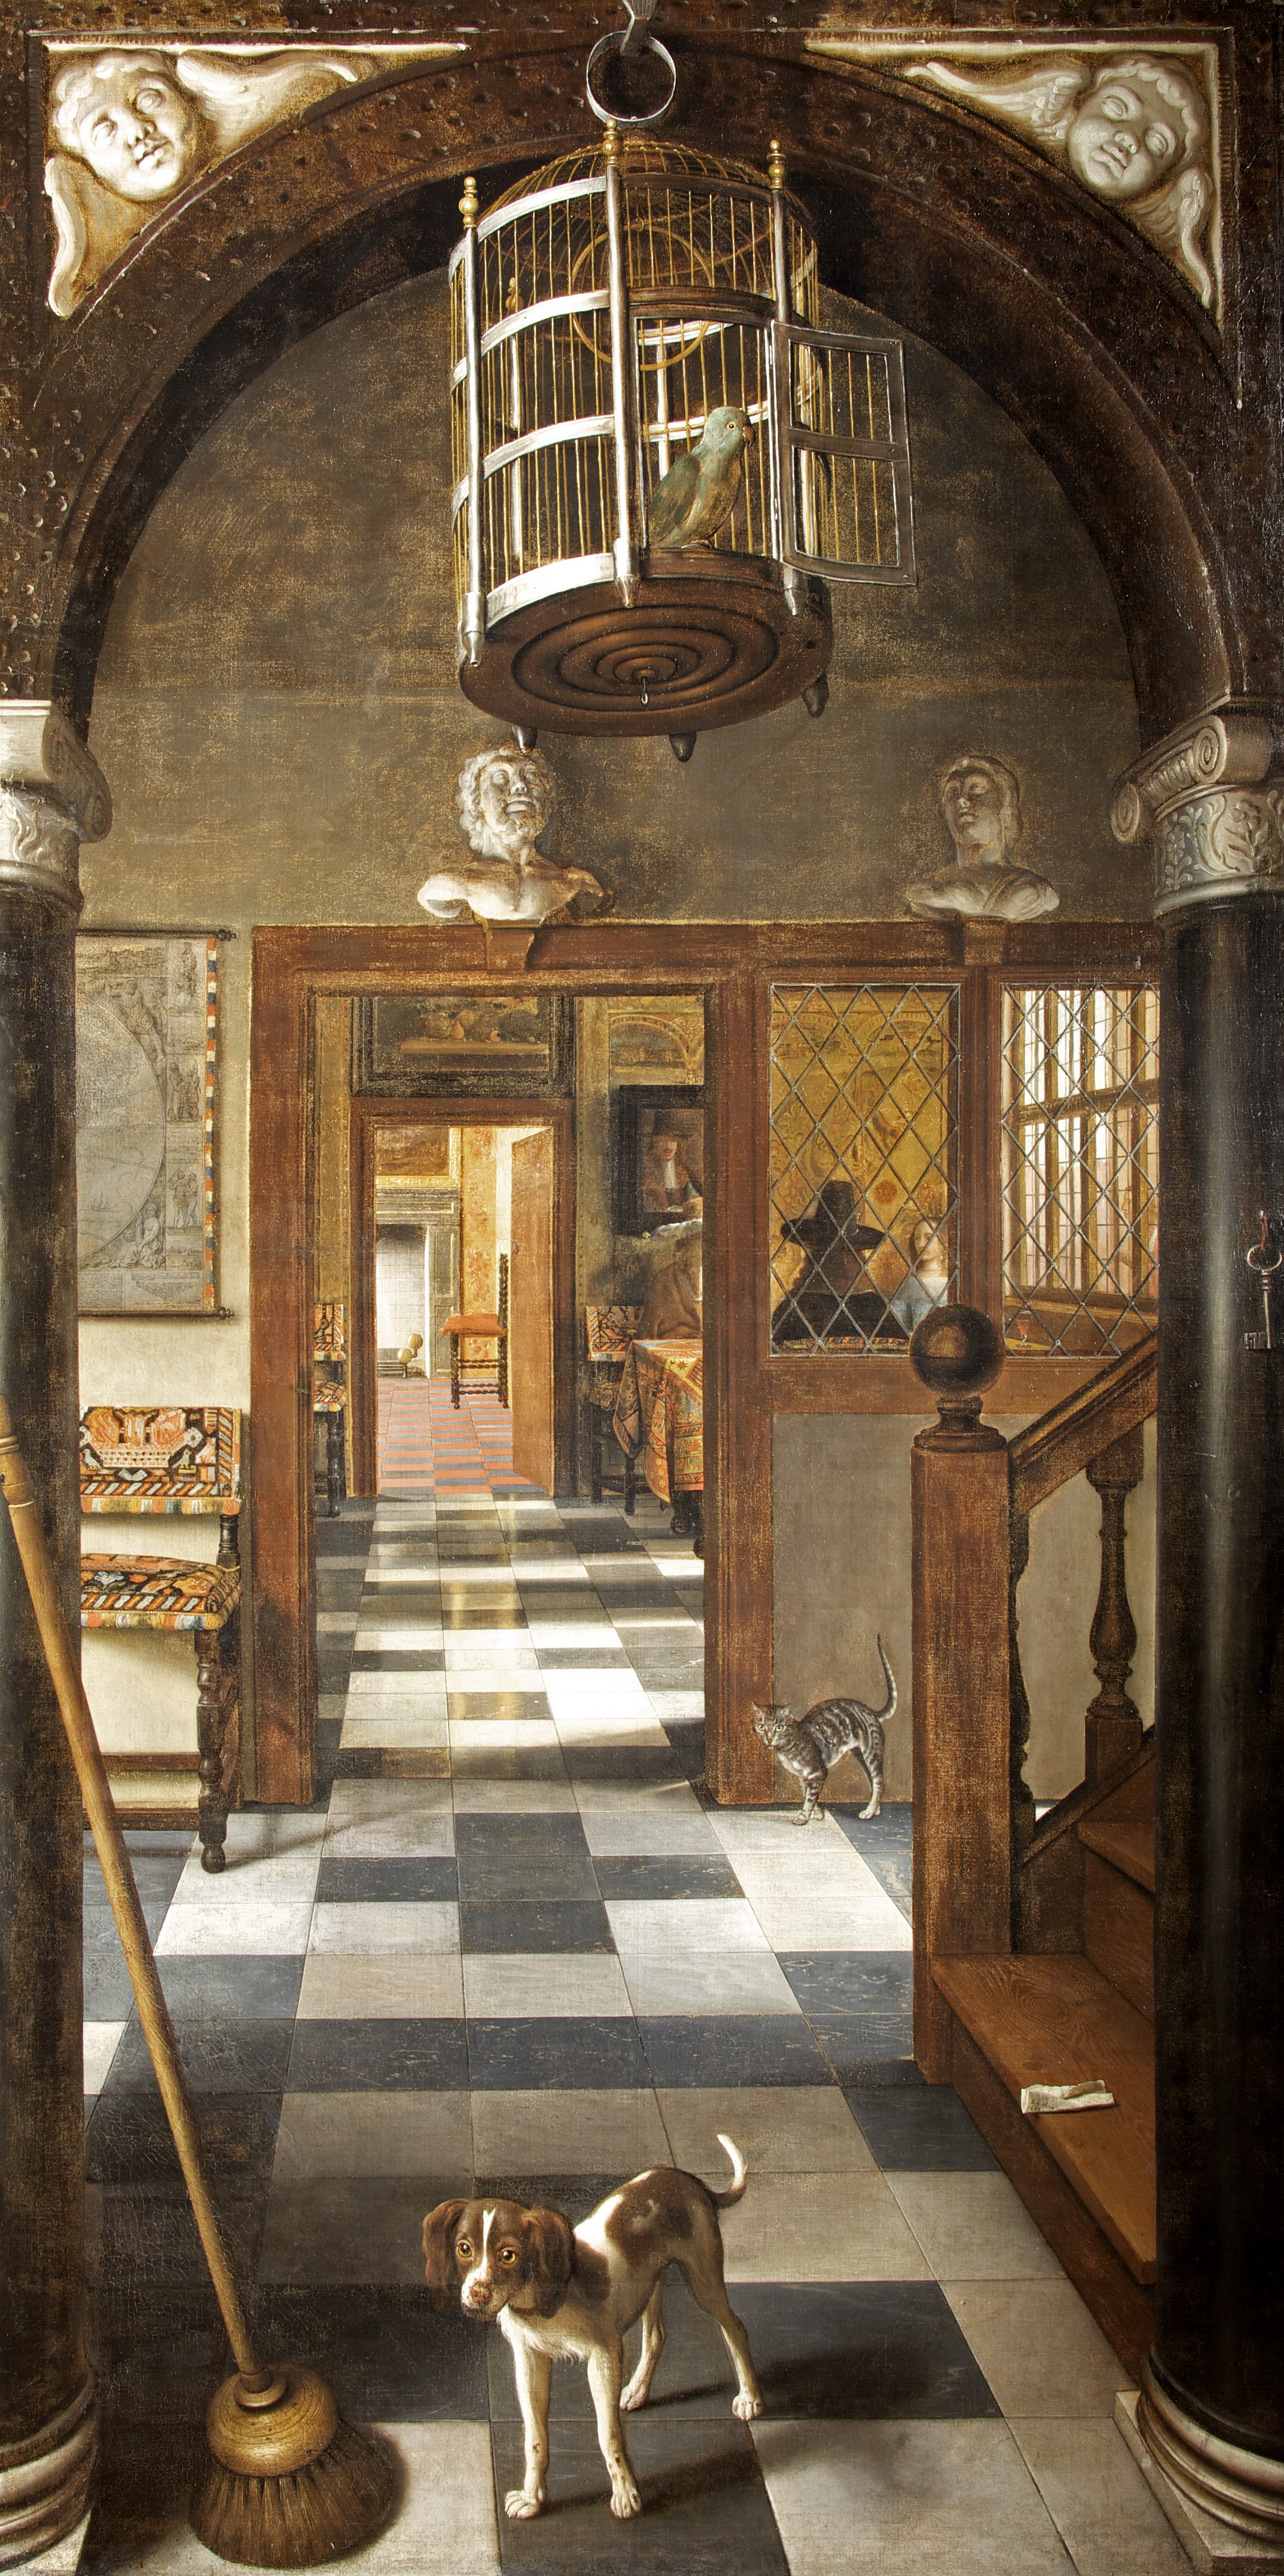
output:
[[[704,1669],[706,1777],[725,1803],[771,1798],[750,1700],[771,1692],[771,1412],[758,1396],[755,1170],[766,1170],[753,1066],[755,976],[776,933],[686,922],[559,925],[536,935],[523,981],[575,999],[704,994],[706,1136],[719,1175],[704,1216]],[[822,953],[825,933],[820,933]],[[312,1273],[315,1005],[325,994],[487,989],[477,927],[263,927],[250,1012],[250,1432],[258,1795],[312,1801],[317,1747]],[[511,974],[505,976],[511,981]],[[379,1118],[389,1103],[371,1103]],[[472,1110],[482,1108],[469,1103]],[[492,1105],[490,1105],[492,1108]],[[513,1103],[505,1103],[513,1108]],[[415,1103],[425,1115],[425,1103]],[[464,1103],[451,1103],[451,1118]],[[523,1123],[552,1123],[531,1100]],[[572,1376],[570,1381],[572,1383]],[[730,1504],[735,1497],[735,1507]]]

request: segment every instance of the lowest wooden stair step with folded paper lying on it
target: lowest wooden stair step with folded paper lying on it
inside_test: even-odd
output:
[[[1078,1953],[936,1958],[931,1973],[998,2079],[1101,2076],[1114,2110],[1031,2120],[1132,2277],[1155,2280],[1155,2043],[1145,2017]]]

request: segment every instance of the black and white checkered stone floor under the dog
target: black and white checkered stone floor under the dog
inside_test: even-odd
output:
[[[972,2576],[1186,2571],[1114,2424],[1127,2375],[959,2099],[910,2058],[908,1808],[719,1811],[701,1566],[639,1497],[345,1504],[317,1530],[322,1790],[232,1819],[206,1878],[134,1834],[160,1973],[260,2344],[389,2429],[371,2571]],[[85,2092],[103,2478],[85,2566],[217,2561],[183,2499],[227,2370],[129,1984],[85,1860]],[[420,2218],[503,2190],[580,2218],[652,2161],[722,2179],[766,2414],[678,2277],[645,2512],[606,2506],[583,2370],[549,2509],[492,2329],[438,2316]]]

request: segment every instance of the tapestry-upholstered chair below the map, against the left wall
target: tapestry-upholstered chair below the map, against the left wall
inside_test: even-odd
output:
[[[90,1404],[80,1417],[80,1510],[219,1520],[214,1564],[191,1556],[83,1556],[83,1628],[160,1628],[196,1646],[196,1832],[201,1868],[224,1868],[240,1777],[240,1412],[227,1404]],[[108,1772],[134,1757],[106,1754]],[[162,1754],[157,1770],[188,1770]],[[134,1811],[139,1814],[139,1811]],[[147,1814],[147,1811],[144,1811]],[[142,1819],[139,1819],[142,1821]],[[170,1821],[170,1819],[147,1819]]]

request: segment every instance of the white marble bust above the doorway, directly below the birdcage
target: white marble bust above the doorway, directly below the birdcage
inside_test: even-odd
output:
[[[467,909],[485,922],[547,922],[575,896],[606,886],[588,868],[559,868],[536,850],[552,822],[557,778],[541,752],[492,744],[459,770],[459,829],[472,858],[449,858],[423,878],[420,904],[436,922],[456,922]]]

